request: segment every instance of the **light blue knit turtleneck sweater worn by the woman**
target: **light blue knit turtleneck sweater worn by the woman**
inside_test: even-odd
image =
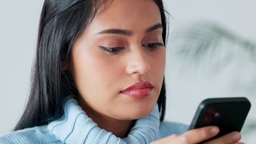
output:
[[[64,115],[49,124],[14,131],[0,136],[0,143],[132,143],[143,144],[172,134],[182,134],[188,125],[160,122],[158,104],[146,117],[137,119],[127,137],[121,139],[101,129],[89,118],[77,101],[71,97],[63,100]]]

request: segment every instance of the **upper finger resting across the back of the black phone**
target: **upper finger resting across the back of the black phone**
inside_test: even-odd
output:
[[[215,126],[208,126],[198,129],[193,129],[179,135],[180,143],[199,143],[216,136],[219,133],[219,128]]]

